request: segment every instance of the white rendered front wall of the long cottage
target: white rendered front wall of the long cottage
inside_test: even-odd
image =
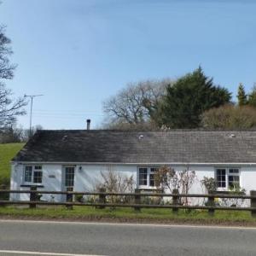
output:
[[[40,165],[40,163],[38,163]],[[64,165],[65,166],[65,165]],[[147,165],[150,167],[150,165]],[[227,165],[228,166],[228,165]],[[224,166],[224,167],[227,167]],[[64,186],[64,168],[61,165],[44,164],[43,167],[43,183],[44,188],[38,190],[65,190]],[[133,177],[138,184],[136,165],[76,165],[74,177],[74,191],[91,191],[96,187],[96,184],[102,182],[102,174],[108,171],[119,172],[126,177]],[[176,171],[187,170],[188,166],[172,166]],[[247,190],[256,190],[256,166],[236,166],[240,167],[241,188]],[[24,166],[13,164],[11,171],[11,189],[27,190],[29,187],[20,187],[23,183]],[[195,183],[189,193],[203,194],[206,191],[201,186],[201,180],[204,177],[215,177],[215,166],[189,166],[189,171],[195,171]],[[167,191],[166,191],[167,192]],[[168,191],[169,192],[169,191]],[[10,199],[13,201],[27,201],[28,194],[12,194]],[[41,200],[44,201],[64,201],[65,195],[44,195]]]

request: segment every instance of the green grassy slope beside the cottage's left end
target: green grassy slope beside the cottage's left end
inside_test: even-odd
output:
[[[10,176],[9,161],[24,146],[24,143],[0,144],[0,184],[8,184]]]

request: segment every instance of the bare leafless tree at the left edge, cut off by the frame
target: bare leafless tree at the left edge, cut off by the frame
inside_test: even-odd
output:
[[[4,34],[4,27],[0,26],[0,128],[13,123],[17,115],[25,114],[24,98],[12,98],[11,90],[7,89],[4,80],[13,79],[15,65],[10,64],[9,55],[12,54],[10,39]]]

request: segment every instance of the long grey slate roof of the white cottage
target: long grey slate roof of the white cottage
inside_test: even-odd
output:
[[[139,137],[143,135],[143,138]],[[16,161],[256,163],[256,131],[38,131]]]

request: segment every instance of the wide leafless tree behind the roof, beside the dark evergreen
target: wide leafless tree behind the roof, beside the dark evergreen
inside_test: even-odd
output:
[[[166,94],[170,79],[148,80],[127,84],[116,96],[103,102],[103,110],[107,114],[108,124],[138,125],[154,121],[157,102]]]

